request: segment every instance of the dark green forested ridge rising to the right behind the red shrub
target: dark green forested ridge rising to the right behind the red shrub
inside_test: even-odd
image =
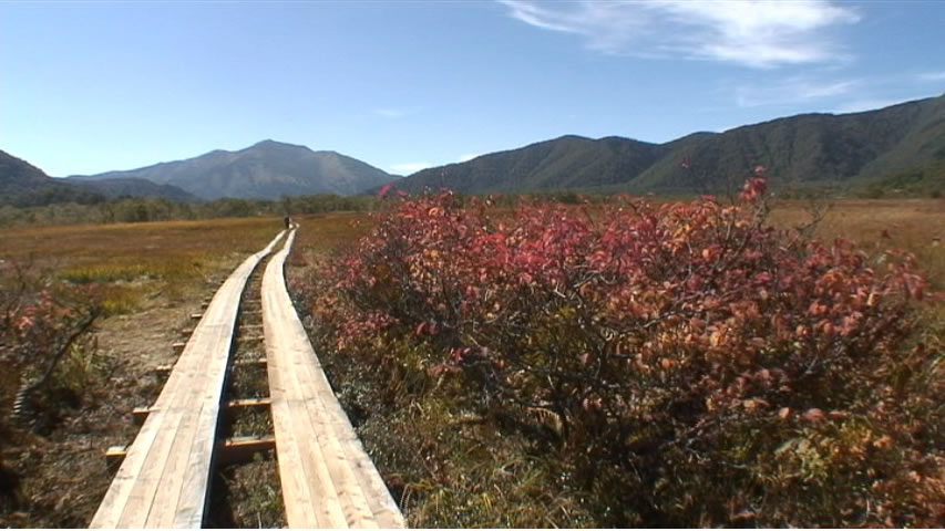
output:
[[[860,186],[903,173],[945,188],[945,95],[853,114],[804,114],[695,133],[665,144],[563,136],[429,168],[396,183],[468,194],[692,194],[741,183],[757,166],[772,187]]]

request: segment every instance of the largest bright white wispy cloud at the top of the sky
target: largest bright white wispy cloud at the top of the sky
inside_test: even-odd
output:
[[[860,20],[854,9],[826,0],[499,1],[511,17],[581,35],[592,50],[751,67],[845,59],[824,30]]]

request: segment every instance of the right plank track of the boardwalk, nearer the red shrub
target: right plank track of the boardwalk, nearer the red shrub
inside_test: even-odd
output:
[[[286,290],[285,260],[263,278],[276,452],[291,528],[403,528],[404,520],[321,371]]]

